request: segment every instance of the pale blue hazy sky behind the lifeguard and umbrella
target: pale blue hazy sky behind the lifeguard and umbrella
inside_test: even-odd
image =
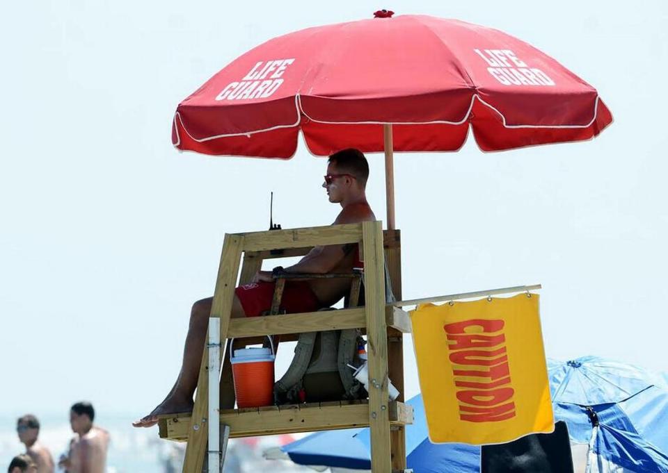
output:
[[[64,417],[79,399],[148,413],[177,374],[192,302],[212,293],[223,235],[267,229],[270,190],[283,228],[333,221],[325,160],[305,147],[287,162],[178,153],[170,123],[247,49],[379,8],[516,35],[594,85],[615,119],[590,142],[395,156],[404,298],[542,283],[548,356],[667,368],[668,3],[257,5],[3,6],[0,416]],[[384,218],[383,160],[369,162]],[[406,358],[410,396],[408,342]]]

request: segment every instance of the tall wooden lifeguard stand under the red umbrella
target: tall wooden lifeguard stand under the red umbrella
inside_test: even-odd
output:
[[[163,416],[159,420],[161,438],[188,442],[184,473],[202,471],[211,423],[214,423],[212,432],[216,433],[212,435],[217,437],[219,426],[224,424],[229,427],[230,438],[369,426],[372,472],[403,472],[406,469],[404,429],[406,424],[413,422],[413,409],[404,404],[402,334],[411,331],[411,323],[406,312],[385,301],[384,273],[386,261],[392,292],[401,299],[400,240],[399,230],[383,232],[381,222],[225,235],[211,311],[212,319],[220,321],[219,340],[265,335],[283,335],[281,340],[296,340],[296,336],[289,335],[306,331],[363,329],[367,334],[369,399],[218,410],[217,403],[209,406],[209,375],[212,379],[220,376],[222,350],[218,350],[216,363],[216,356],[209,357],[207,345],[202,356],[193,413]],[[302,256],[316,245],[347,243],[360,244],[365,266],[365,306],[317,313],[230,318],[242,258],[238,279],[244,284],[262,267],[265,259]],[[283,252],[272,252],[278,249]],[[221,395],[229,400],[234,399],[234,387],[228,363],[229,357],[226,356],[220,388]],[[400,392],[396,401],[388,401],[388,378]],[[215,395],[214,398],[218,399]],[[219,413],[219,417],[211,418],[211,413]],[[211,443],[217,445],[218,439],[212,438]]]

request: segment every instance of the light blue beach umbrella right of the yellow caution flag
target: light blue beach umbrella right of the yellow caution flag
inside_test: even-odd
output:
[[[591,472],[668,473],[668,390],[661,376],[586,356],[548,361],[555,419],[589,444]],[[611,466],[612,465],[612,466]]]

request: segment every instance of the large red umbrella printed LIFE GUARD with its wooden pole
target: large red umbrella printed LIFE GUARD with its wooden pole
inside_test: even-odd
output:
[[[296,31],[232,61],[179,104],[175,147],[289,159],[308,150],[484,151],[587,140],[612,122],[598,92],[501,31],[454,19],[381,18]]]

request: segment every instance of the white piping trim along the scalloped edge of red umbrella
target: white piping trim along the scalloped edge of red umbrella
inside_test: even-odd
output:
[[[181,137],[179,135],[179,128],[178,128],[178,126],[176,126],[176,119],[177,118],[179,119],[179,122],[181,123],[181,126],[182,126],[183,130],[186,132],[186,134],[189,136],[189,138],[191,138],[191,140],[193,140],[195,142],[202,143],[202,142],[206,142],[206,141],[210,141],[210,140],[216,140],[217,138],[230,138],[230,137],[233,137],[233,136],[244,136],[244,135],[250,137],[250,135],[253,135],[255,133],[264,133],[264,132],[267,132],[267,131],[278,130],[280,128],[294,128],[294,127],[299,126],[299,123],[301,122],[301,114],[303,114],[306,118],[310,119],[312,122],[323,123],[323,124],[338,124],[338,125],[346,125],[346,124],[351,124],[351,125],[353,125],[353,124],[379,124],[379,125],[383,125],[383,124],[396,124],[396,125],[404,125],[404,124],[405,125],[450,124],[450,125],[461,125],[468,120],[468,117],[470,117],[470,113],[471,113],[471,110],[473,108],[473,103],[475,103],[476,99],[479,100],[480,103],[482,103],[484,106],[486,106],[486,107],[490,108],[491,110],[493,110],[494,112],[498,113],[498,115],[502,119],[502,124],[503,124],[504,128],[511,128],[511,129],[512,128],[553,128],[553,129],[555,129],[555,128],[556,129],[559,129],[559,128],[589,128],[589,126],[591,126],[591,124],[596,122],[596,118],[598,117],[598,102],[599,102],[600,97],[598,95],[596,95],[596,101],[594,103],[594,117],[592,117],[591,121],[586,125],[509,125],[506,122],[506,117],[504,117],[504,115],[500,112],[500,110],[498,110],[498,108],[495,108],[494,106],[492,106],[490,103],[487,103],[486,101],[481,99],[478,94],[473,94],[473,97],[471,97],[471,103],[468,107],[468,110],[466,111],[466,114],[464,115],[463,119],[459,120],[458,122],[450,122],[450,121],[447,121],[447,120],[435,120],[433,122],[373,122],[373,121],[370,121],[370,122],[326,122],[326,121],[323,121],[323,120],[314,119],[314,118],[310,117],[308,115],[308,113],[306,113],[304,111],[303,106],[301,104],[301,95],[300,94],[295,94],[294,99],[295,99],[295,108],[296,108],[296,113],[297,113],[297,119],[296,119],[296,122],[294,124],[291,124],[291,125],[277,125],[277,126],[272,126],[270,128],[264,128],[262,130],[248,131],[246,133],[228,133],[228,134],[223,133],[223,134],[220,134],[220,135],[208,136],[206,138],[194,138],[193,135],[191,135],[189,133],[188,129],[186,128],[185,124],[183,123],[183,119],[181,117],[180,112],[177,111],[174,114],[174,119],[173,119],[176,138],[177,138],[174,146],[178,147],[181,144]]]

